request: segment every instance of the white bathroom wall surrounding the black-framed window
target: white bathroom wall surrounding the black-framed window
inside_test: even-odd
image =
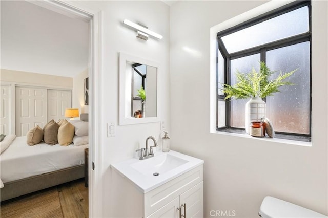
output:
[[[171,6],[171,146],[205,161],[205,217],[257,217],[266,195],[328,215],[326,1],[312,1],[312,147],[210,134],[210,28],[263,3]]]

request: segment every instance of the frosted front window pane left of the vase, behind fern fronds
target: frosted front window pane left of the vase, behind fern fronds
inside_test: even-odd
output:
[[[235,75],[237,69],[239,72],[242,73],[249,73],[252,70],[252,67],[254,67],[256,71],[259,71],[260,69],[259,62],[260,62],[260,54],[249,55],[249,56],[231,60],[230,62],[231,84],[234,85],[237,83],[237,78]],[[232,100],[230,102],[231,114],[233,115],[230,117],[231,127],[245,128],[245,103],[248,100],[238,99],[238,100]]]

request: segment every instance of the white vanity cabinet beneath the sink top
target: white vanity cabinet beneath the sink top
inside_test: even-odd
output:
[[[203,217],[202,164],[149,191],[112,168],[112,187],[113,217]]]

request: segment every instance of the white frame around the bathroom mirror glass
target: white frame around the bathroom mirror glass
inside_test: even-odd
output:
[[[134,118],[134,117],[126,117],[126,110],[128,110],[126,106],[126,95],[131,96],[131,93],[126,93],[126,63],[134,62],[141,63],[148,66],[157,68],[157,111],[156,117],[144,117],[144,118]],[[131,125],[131,124],[140,124],[140,123],[153,123],[160,122],[159,117],[159,100],[160,100],[160,92],[159,92],[159,82],[160,81],[160,66],[159,63],[153,62],[144,58],[136,57],[133,55],[128,55],[125,53],[119,53],[119,125]],[[130,85],[131,86],[131,85]],[[130,108],[130,107],[129,107]]]

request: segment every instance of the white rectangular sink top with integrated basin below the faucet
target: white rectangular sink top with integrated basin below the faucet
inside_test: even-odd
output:
[[[171,150],[155,151],[154,157],[146,160],[131,158],[112,164],[111,168],[146,193],[203,163],[203,160]]]

